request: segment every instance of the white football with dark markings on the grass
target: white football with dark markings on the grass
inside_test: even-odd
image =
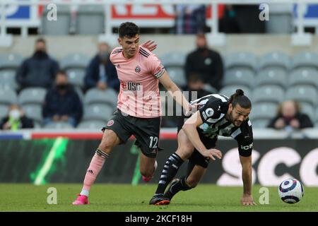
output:
[[[279,185],[278,194],[285,203],[298,203],[304,196],[304,187],[298,179],[286,179]]]

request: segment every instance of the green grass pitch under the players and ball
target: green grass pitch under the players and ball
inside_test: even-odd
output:
[[[57,205],[47,204],[47,189],[57,189]],[[259,189],[253,186],[257,206],[240,206],[242,187],[221,187],[199,184],[190,191],[181,191],[169,206],[150,206],[155,184],[95,184],[90,191],[90,205],[72,206],[81,184],[0,184],[0,211],[318,211],[318,189],[305,187],[299,203],[283,203],[276,187],[269,187],[269,204],[259,204]]]

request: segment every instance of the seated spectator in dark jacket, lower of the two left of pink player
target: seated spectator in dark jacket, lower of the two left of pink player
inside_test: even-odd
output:
[[[42,108],[45,125],[64,121],[76,127],[83,115],[83,105],[78,94],[69,84],[64,71],[59,71],[55,78],[54,88],[47,92]]]

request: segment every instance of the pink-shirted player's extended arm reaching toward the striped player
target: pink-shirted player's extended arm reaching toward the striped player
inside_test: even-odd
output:
[[[163,87],[167,90],[169,95],[179,104],[181,105],[186,111],[192,110],[192,105],[189,104],[187,99],[182,94],[181,90],[175,85],[175,83],[170,79],[167,71],[163,73],[160,78],[158,78],[159,82],[163,84]]]

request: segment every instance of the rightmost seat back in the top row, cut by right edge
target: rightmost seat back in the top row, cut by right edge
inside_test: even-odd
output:
[[[292,59],[292,67],[296,68],[318,68],[318,54],[313,52],[301,52],[299,54],[295,54]]]

